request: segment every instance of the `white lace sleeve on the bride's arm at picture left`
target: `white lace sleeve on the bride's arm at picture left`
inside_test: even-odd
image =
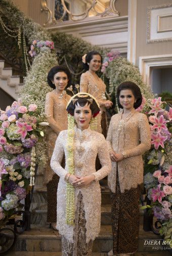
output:
[[[53,155],[51,158],[51,163],[50,163],[51,168],[61,178],[65,178],[66,174],[68,173],[67,170],[65,170],[61,166],[61,162],[63,160],[63,155],[64,155],[63,140],[64,140],[64,131],[60,132],[59,136],[57,137],[56,145],[55,145]]]

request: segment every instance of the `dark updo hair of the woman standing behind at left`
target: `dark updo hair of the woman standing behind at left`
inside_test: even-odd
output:
[[[65,66],[55,66],[50,69],[47,76],[47,82],[49,86],[53,89],[56,89],[55,84],[53,84],[52,81],[54,80],[54,75],[58,72],[64,72],[67,75],[67,79],[68,79],[67,87],[69,87],[71,84],[71,74],[69,69],[66,68]]]

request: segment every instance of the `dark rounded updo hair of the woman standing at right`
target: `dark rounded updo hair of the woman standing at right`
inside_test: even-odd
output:
[[[117,103],[118,103],[119,108],[123,108],[119,101],[120,91],[122,91],[122,90],[131,90],[136,99],[136,102],[134,103],[134,108],[136,109],[136,108],[140,107],[140,105],[142,104],[142,93],[141,93],[140,88],[134,82],[125,81],[125,82],[122,82],[121,84],[119,84],[119,86],[117,88],[117,92],[116,92]]]

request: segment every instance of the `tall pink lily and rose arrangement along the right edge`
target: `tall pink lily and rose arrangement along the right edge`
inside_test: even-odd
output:
[[[171,239],[171,233],[167,228],[165,231],[164,226],[168,227],[172,218],[172,108],[167,111],[165,105],[161,97],[155,98],[151,100],[147,113],[153,148],[146,154],[145,168],[148,173],[144,176],[144,183],[151,201],[147,207],[151,207],[154,217],[162,222],[160,233],[165,239]]]

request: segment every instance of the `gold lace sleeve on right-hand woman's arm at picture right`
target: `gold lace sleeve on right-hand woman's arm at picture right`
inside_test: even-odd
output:
[[[150,126],[145,114],[141,114],[139,120],[139,133],[141,143],[132,149],[123,151],[124,158],[144,154],[151,147]]]

